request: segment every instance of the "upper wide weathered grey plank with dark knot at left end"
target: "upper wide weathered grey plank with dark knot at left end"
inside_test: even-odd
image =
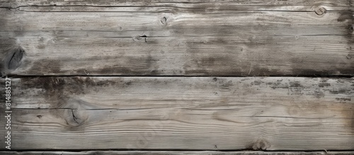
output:
[[[0,6],[2,74],[354,76],[352,1]]]

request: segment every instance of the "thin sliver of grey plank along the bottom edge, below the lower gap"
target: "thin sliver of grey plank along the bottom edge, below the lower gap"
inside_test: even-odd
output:
[[[353,155],[354,151],[0,151],[0,154],[65,155],[65,154],[127,154],[127,155]]]

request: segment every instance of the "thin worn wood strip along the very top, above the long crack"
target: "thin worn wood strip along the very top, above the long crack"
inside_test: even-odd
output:
[[[239,6],[351,6],[351,1],[171,1],[171,0],[152,0],[152,1],[23,1],[23,0],[1,0],[0,7],[18,8],[21,6],[210,6],[212,4],[228,4]],[[216,5],[217,6],[217,5]]]

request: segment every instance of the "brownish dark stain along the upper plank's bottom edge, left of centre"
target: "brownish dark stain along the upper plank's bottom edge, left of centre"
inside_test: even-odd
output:
[[[94,60],[100,59],[113,59],[112,57],[92,57]],[[89,60],[91,60],[89,59]],[[70,72],[75,75],[81,74],[125,74],[125,75],[159,75],[161,70],[157,66],[156,62],[158,59],[154,59],[152,55],[147,55],[146,57],[117,57],[118,61],[110,66],[105,65],[101,69],[93,69],[92,67],[86,67],[86,69],[77,69],[76,67],[70,67],[72,69]],[[88,60],[88,61],[89,61]],[[26,66],[30,66],[28,69],[28,74],[42,75],[43,73],[66,73],[66,68],[62,67],[62,64],[66,62],[77,61],[75,59],[40,59],[38,61],[30,64],[29,62]]]

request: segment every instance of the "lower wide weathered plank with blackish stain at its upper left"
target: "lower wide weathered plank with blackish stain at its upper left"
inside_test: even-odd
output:
[[[11,81],[13,149],[354,149],[352,79]]]

